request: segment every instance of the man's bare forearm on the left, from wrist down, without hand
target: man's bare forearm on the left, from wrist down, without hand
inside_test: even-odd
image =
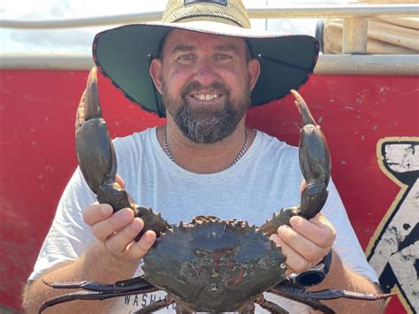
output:
[[[54,289],[45,285],[47,282],[68,282],[93,280],[103,283],[113,283],[131,278],[138,263],[122,263],[118,259],[105,254],[103,244],[95,242],[87,249],[85,255],[70,264],[61,264],[57,269],[42,275],[26,288],[23,306],[27,313],[37,313],[42,303],[57,295],[68,294],[74,289]],[[110,309],[114,300],[105,301],[72,301],[61,303],[45,310],[45,313],[103,313]]]

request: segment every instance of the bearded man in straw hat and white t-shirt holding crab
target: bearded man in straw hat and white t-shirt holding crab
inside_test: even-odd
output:
[[[171,0],[163,20],[119,27],[95,38],[95,63],[103,73],[133,101],[167,117],[165,126],[115,141],[126,189],[170,223],[200,214],[260,226],[279,208],[298,204],[302,177],[297,149],[247,128],[245,118],[251,103],[281,98],[307,80],[316,64],[316,41],[256,34],[240,0]],[[323,213],[309,221],[292,218],[291,227],[281,226],[270,239],[286,255],[288,273],[310,269],[332,249],[330,271],[315,290],[377,292],[372,283],[377,276],[332,183],[329,190]],[[110,205],[95,203],[80,171],[75,172],[29,279],[27,311],[62,294],[42,280],[111,283],[140,275],[141,259],[156,240],[148,231],[133,241],[142,227],[130,209],[112,214]],[[53,310],[125,313],[161,297],[77,301]],[[291,312],[309,312],[301,303],[266,297]],[[352,312],[354,306],[360,312],[382,310],[379,301],[324,303],[339,313]]]

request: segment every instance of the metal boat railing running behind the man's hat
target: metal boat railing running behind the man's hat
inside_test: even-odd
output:
[[[324,6],[263,7],[248,10],[251,19],[331,19],[343,22],[342,54],[323,54],[315,73],[418,75],[419,55],[368,54],[368,20],[371,18],[419,17],[419,4],[347,4]],[[58,29],[103,27],[161,19],[162,11],[106,17],[60,20],[0,19],[0,27]],[[418,38],[419,40],[419,38]],[[0,69],[88,69],[88,54],[0,54]]]

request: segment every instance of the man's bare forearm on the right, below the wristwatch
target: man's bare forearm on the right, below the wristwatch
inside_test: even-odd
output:
[[[348,269],[334,251],[328,275],[321,284],[312,287],[311,290],[317,291],[331,288],[362,293],[378,293],[377,287],[371,281]],[[363,301],[340,298],[322,301],[322,303],[330,306],[337,313],[353,313],[354,309],[356,309],[358,314],[370,314],[381,313],[384,310],[384,300]]]

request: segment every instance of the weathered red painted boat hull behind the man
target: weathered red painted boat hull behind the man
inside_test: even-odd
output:
[[[49,230],[59,196],[76,167],[73,125],[87,76],[86,71],[0,72],[0,304],[15,310],[20,309],[20,291]],[[164,123],[127,101],[108,80],[100,80],[99,87],[113,137]],[[385,238],[394,211],[406,206],[412,213],[419,211],[417,185],[398,184],[377,161],[383,159],[380,149],[385,138],[409,137],[418,144],[418,90],[417,77],[353,75],[314,75],[301,88],[327,136],[333,179],[371,258]],[[298,142],[299,120],[292,97],[248,113],[248,126],[291,144]],[[417,155],[413,157],[417,160]],[[407,175],[417,177],[415,172]],[[416,201],[398,206],[408,199],[403,198],[407,189],[417,192]],[[415,226],[414,218],[407,215],[412,221],[406,224]],[[407,230],[403,236],[408,237]],[[412,259],[408,263],[412,268]],[[398,265],[404,267],[401,262]],[[403,290],[408,283],[401,282],[406,279],[382,280],[400,287],[400,297],[392,297],[386,312],[413,311],[414,301]]]

